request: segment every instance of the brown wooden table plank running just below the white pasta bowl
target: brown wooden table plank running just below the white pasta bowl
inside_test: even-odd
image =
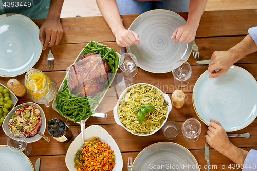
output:
[[[181,125],[183,122],[177,122],[177,123],[181,128]],[[256,125],[256,123],[257,123],[257,120],[254,120],[253,123],[250,124],[248,127],[240,131],[237,131],[240,133],[250,132],[251,134],[250,138],[230,138],[230,141],[238,147],[257,147],[256,146],[257,139],[255,138],[257,136],[257,127],[254,126]],[[187,141],[185,141],[183,139],[181,130],[179,131],[177,138],[175,140],[170,141],[164,137],[162,133],[162,129],[156,132],[156,134],[142,137],[142,136],[136,136],[131,134],[130,132],[126,131],[124,128],[122,128],[117,124],[108,124],[108,125],[101,125],[101,126],[107,132],[109,132],[109,134],[114,138],[121,152],[128,152],[128,151],[141,151],[146,146],[149,146],[157,142],[163,142],[163,141],[175,142],[186,147],[187,149],[204,149],[204,145],[206,141],[204,132],[207,132],[208,127],[203,122],[201,122],[201,125],[202,125],[201,135],[199,140],[197,140],[195,143],[188,143]],[[46,143],[45,140],[41,138],[39,141],[32,143],[33,150],[29,156],[65,155],[71,142],[80,133],[79,125],[70,126],[70,129],[72,130],[73,138],[68,143],[60,143],[54,140],[53,138],[51,138],[51,140],[48,143]],[[51,137],[47,131],[45,131],[45,135],[48,137]],[[0,129],[0,144],[6,145],[6,140],[7,140],[7,136],[5,135],[3,130]],[[239,140],[242,140],[242,141],[239,141]]]

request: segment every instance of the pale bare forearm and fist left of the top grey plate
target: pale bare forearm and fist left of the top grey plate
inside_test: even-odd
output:
[[[133,44],[140,44],[138,34],[134,31],[126,30],[123,26],[116,0],[96,0],[96,2],[119,46],[128,47]]]

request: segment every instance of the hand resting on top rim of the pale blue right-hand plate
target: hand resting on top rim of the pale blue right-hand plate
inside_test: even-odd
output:
[[[216,78],[226,73],[229,68],[236,62],[230,51],[219,51],[214,52],[211,56],[211,63],[209,64],[208,70],[211,73],[209,78]],[[219,71],[215,71],[219,69]]]

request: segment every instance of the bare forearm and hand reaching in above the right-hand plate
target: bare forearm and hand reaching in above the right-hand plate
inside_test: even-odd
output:
[[[240,43],[230,48],[228,51],[214,52],[208,67],[211,73],[209,78],[216,78],[226,73],[234,63],[256,51],[257,45],[248,34]],[[215,69],[219,69],[219,71],[215,72]]]

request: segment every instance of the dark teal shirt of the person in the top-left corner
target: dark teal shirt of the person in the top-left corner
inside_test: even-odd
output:
[[[50,1],[51,0],[0,0],[0,15],[18,13],[32,20],[45,19],[49,11]]]

